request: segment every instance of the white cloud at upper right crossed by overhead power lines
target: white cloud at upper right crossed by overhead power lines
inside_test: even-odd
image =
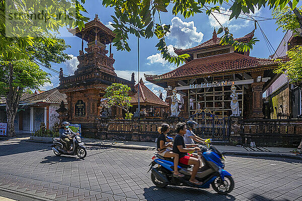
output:
[[[220,14],[219,13],[212,13],[212,14],[216,17],[216,19],[219,21],[219,23],[222,26],[228,27],[229,29],[238,30],[241,28],[245,28],[250,26],[250,23],[253,22],[251,20],[243,20],[240,18],[238,18],[237,20],[233,18],[232,20],[229,21],[231,15],[231,12],[229,12],[230,10],[229,9],[225,10],[223,7],[220,7],[220,9],[221,9]],[[257,8],[255,8],[255,13],[251,15],[259,16],[260,12],[261,9],[258,10]],[[218,29],[220,28],[220,25],[217,22],[217,20],[213,17],[213,15],[208,16],[210,26]],[[240,17],[249,18],[248,16],[245,15],[240,15]]]

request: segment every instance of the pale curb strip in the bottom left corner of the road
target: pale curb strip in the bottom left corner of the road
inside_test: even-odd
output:
[[[16,190],[11,190],[11,189],[2,188],[2,187],[0,187],[0,194],[3,197],[21,200],[21,201],[53,201],[54,200],[54,199],[39,197],[39,196],[28,194],[25,192],[19,192]]]

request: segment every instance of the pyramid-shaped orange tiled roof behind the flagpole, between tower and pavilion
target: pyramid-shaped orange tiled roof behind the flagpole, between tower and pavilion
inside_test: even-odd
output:
[[[154,94],[148,87],[146,87],[140,79],[138,84],[134,86],[135,94],[131,96],[130,103],[137,104],[138,103],[138,87],[139,87],[139,103],[146,104],[146,105],[156,105],[162,107],[169,107],[169,104],[163,102],[156,94]]]

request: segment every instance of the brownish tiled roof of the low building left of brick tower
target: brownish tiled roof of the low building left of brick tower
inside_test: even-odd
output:
[[[44,91],[42,93],[34,94],[31,97],[24,99],[23,103],[50,103],[50,104],[60,104],[62,100],[64,104],[67,104],[67,96],[65,93],[59,92],[57,88],[50,89],[48,91]]]

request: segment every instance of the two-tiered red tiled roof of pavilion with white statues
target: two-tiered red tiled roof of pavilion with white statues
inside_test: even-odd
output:
[[[254,31],[236,40],[247,42],[253,36]],[[167,87],[167,81],[169,80],[265,70],[275,68],[277,65],[277,62],[272,59],[251,57],[248,55],[249,53],[234,51],[231,46],[220,45],[215,31],[210,40],[193,48],[185,50],[175,49],[175,53],[178,55],[188,53],[191,54],[191,58],[184,65],[170,72],[161,75],[145,74],[146,80],[159,86]],[[200,54],[201,58],[198,58],[198,54]]]

